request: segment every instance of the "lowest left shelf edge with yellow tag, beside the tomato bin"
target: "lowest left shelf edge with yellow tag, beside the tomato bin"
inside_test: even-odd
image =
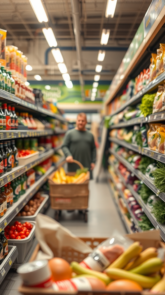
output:
[[[4,280],[9,269],[13,265],[16,257],[18,256],[18,251],[16,246],[8,246],[9,254],[6,256],[2,264],[0,265],[0,284]]]

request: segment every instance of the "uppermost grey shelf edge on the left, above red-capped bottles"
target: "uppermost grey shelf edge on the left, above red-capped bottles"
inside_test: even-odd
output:
[[[53,117],[53,118],[58,119],[62,122],[67,122],[67,120],[64,117],[62,117],[60,114],[54,114],[53,112],[51,112],[51,110],[44,109],[43,107],[37,106],[35,104],[31,104],[30,102],[25,101],[25,100],[15,96],[14,94],[11,94],[11,93],[9,93],[5,90],[2,90],[2,89],[0,89],[0,98],[3,100],[7,100],[10,102],[19,104],[21,106],[27,107],[27,108],[32,109],[32,110],[39,112],[41,114],[46,114],[49,117]]]

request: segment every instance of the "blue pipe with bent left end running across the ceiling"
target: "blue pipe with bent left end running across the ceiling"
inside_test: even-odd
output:
[[[49,51],[51,51],[53,48],[57,48],[57,47],[49,47],[46,51],[45,51],[45,65],[48,65],[48,53]],[[76,47],[75,46],[61,46],[58,47],[61,51],[75,51]],[[127,51],[128,47],[81,47],[82,51],[98,51],[98,50],[106,50],[106,51]]]

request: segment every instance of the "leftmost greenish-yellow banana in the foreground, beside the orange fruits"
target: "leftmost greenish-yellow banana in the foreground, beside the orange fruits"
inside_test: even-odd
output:
[[[72,268],[72,271],[74,273],[77,273],[78,275],[95,276],[99,278],[100,280],[102,280],[103,282],[105,282],[106,285],[108,285],[111,282],[111,279],[105,273],[101,273],[100,271],[93,271],[91,269],[80,266],[80,264],[76,261],[71,262],[70,266]]]

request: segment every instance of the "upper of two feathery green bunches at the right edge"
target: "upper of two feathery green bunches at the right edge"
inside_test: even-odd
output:
[[[163,163],[157,163],[158,168],[152,171],[154,176],[154,185],[159,191],[165,192],[165,165]]]

